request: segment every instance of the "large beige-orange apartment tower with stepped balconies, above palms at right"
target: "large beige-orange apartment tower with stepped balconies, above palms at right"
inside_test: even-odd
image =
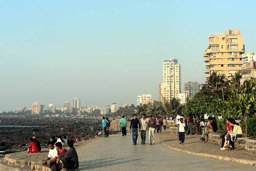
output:
[[[206,63],[206,79],[212,72],[224,74],[231,79],[231,74],[241,70],[241,55],[244,53],[243,37],[240,30],[227,30],[224,34],[212,34],[203,56]]]

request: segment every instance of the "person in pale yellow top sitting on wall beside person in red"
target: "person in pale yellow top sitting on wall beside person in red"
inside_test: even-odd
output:
[[[227,148],[226,150],[233,150],[235,148],[234,141],[242,137],[243,134],[242,128],[234,119],[231,119],[230,125],[233,127],[233,130],[227,133],[227,145],[224,146],[224,148]],[[230,148],[230,143],[232,148]]]

